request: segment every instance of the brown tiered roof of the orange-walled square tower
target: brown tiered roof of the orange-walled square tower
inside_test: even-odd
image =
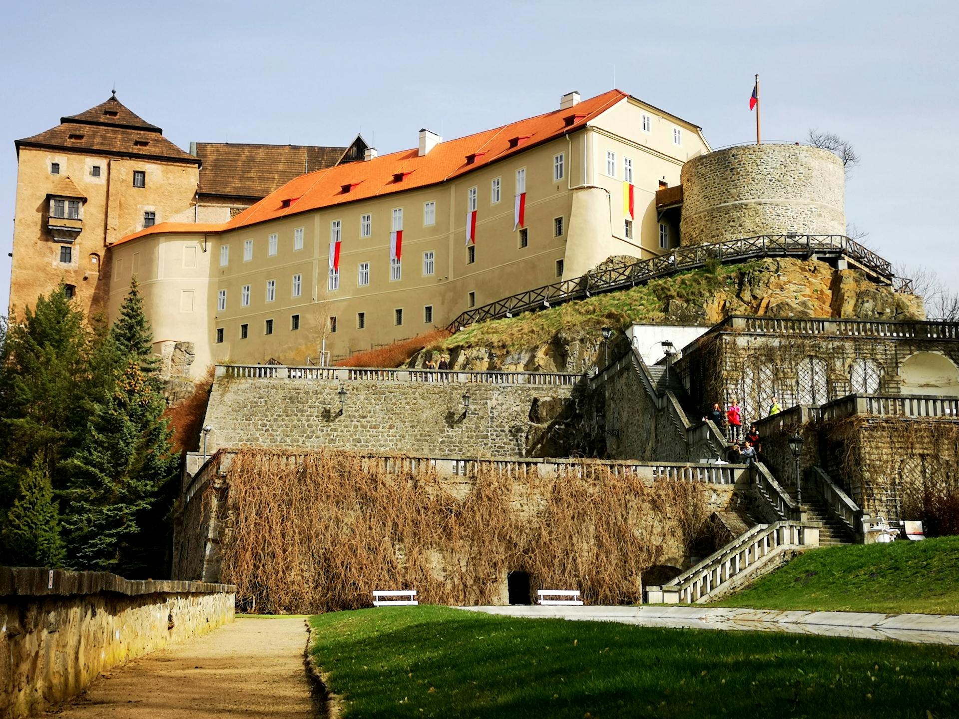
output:
[[[16,140],[13,145],[17,153],[21,147],[51,148],[199,165],[197,157],[177,148],[162,133],[113,95],[79,115],[60,118],[56,128]]]

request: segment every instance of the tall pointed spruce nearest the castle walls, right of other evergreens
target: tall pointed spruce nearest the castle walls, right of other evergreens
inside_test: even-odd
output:
[[[77,454],[65,463],[69,513],[63,525],[73,568],[128,575],[162,569],[162,541],[153,526],[164,485],[176,474],[172,431],[163,417],[160,382],[153,376],[152,336],[135,283],[109,333],[101,336],[91,363],[116,382],[99,402]]]

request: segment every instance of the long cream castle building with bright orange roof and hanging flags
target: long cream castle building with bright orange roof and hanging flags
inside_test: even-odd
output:
[[[421,129],[417,147],[364,148],[232,219],[137,228],[110,246],[108,313],[136,276],[157,352],[192,342],[198,374],[227,360],[302,363],[324,345],[347,357],[611,255],[667,251],[679,226],[656,193],[708,151],[700,128],[620,90],[569,93],[558,109],[445,142]],[[212,187],[202,172],[199,184]]]

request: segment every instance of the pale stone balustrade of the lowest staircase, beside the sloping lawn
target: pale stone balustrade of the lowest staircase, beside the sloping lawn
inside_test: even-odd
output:
[[[787,549],[819,545],[819,529],[799,522],[757,524],[671,582],[646,587],[649,604],[693,604],[742,584]]]

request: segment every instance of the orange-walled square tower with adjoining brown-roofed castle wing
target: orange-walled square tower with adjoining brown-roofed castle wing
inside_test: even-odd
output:
[[[362,157],[350,147],[192,143],[176,147],[111,95],[17,140],[10,316],[58,287],[105,310],[107,248],[167,221],[229,220],[292,177]]]

